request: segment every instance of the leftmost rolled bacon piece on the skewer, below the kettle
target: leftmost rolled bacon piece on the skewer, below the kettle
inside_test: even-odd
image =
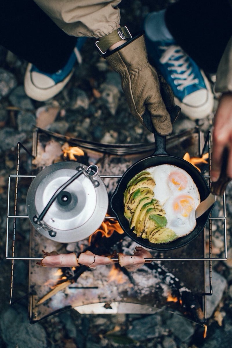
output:
[[[58,254],[58,255],[50,255],[49,253],[45,253],[45,258],[43,258],[40,262],[36,262],[41,266],[45,267],[77,267],[79,266],[77,262],[77,255],[75,253],[70,254]]]

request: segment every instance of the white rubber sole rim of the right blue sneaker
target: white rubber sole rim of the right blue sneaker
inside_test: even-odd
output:
[[[200,106],[190,106],[182,103],[178,98],[174,97],[176,105],[179,105],[181,108],[181,112],[191,120],[202,119],[208,116],[212,112],[214,107],[214,94],[212,93],[210,83],[203,71],[201,71],[201,74],[208,91],[207,100],[205,103]]]

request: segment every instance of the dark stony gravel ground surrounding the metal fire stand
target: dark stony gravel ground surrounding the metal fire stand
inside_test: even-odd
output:
[[[122,23],[128,23],[131,31],[135,32],[147,13],[162,9],[169,2],[127,0],[121,4]],[[7,178],[9,174],[15,174],[17,142],[20,141],[31,149],[35,123],[53,132],[89,141],[107,143],[153,141],[153,135],[131,116],[117,74],[99,57],[93,46],[93,42],[86,42],[83,65],[77,67],[65,89],[47,102],[35,102],[24,94],[23,77],[27,63],[0,46],[0,347],[231,347],[231,184],[226,193],[228,260],[215,261],[213,264],[214,292],[208,306],[206,339],[202,338],[201,326],[167,312],[158,312],[154,315],[80,315],[77,311],[70,310],[30,325],[26,299],[13,306],[8,305],[10,261],[5,260]],[[213,85],[213,77],[210,78]],[[207,132],[212,126],[212,116],[194,122],[181,115],[174,132],[179,133],[181,130],[193,127],[200,127],[203,132]],[[24,167],[30,170],[28,162]],[[214,213],[222,213],[220,202]],[[223,256],[224,243],[220,224],[221,222],[216,222],[213,226],[214,257]],[[22,229],[26,232],[28,226],[25,224]],[[22,235],[22,242],[24,238]],[[19,263],[16,267],[19,275],[16,281],[17,292],[23,294],[26,272],[23,263]]]

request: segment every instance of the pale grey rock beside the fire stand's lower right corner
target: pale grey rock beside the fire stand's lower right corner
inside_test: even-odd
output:
[[[207,273],[206,277],[209,277]],[[221,301],[226,285],[226,279],[217,272],[212,271],[212,295],[206,296],[207,318],[211,317],[218,303]]]

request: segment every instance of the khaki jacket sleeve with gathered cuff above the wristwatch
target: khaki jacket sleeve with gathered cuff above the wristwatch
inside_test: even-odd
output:
[[[120,22],[121,0],[34,0],[68,35],[100,38]]]

